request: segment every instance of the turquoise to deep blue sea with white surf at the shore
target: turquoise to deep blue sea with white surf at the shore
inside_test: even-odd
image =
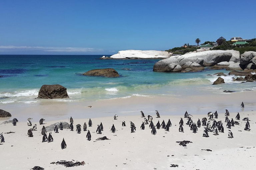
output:
[[[233,76],[223,77],[226,84],[212,85],[216,72],[205,69],[193,73],[153,72],[158,60],[99,59],[103,55],[0,55],[0,104],[36,103],[44,84],[60,84],[67,88],[69,99],[60,102],[97,101],[131,96],[205,95],[223,90],[255,90],[255,82],[233,82]],[[105,55],[109,56],[109,55]],[[82,75],[88,70],[114,68],[118,78]],[[211,75],[208,75],[211,74]]]

